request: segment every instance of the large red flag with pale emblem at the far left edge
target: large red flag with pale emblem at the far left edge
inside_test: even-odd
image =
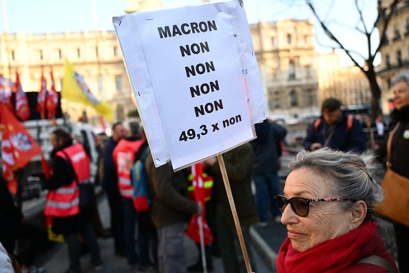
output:
[[[43,159],[41,148],[14,114],[0,103],[1,123],[1,157],[3,159],[3,176],[7,181],[15,181],[13,172],[23,168],[32,157],[41,154],[45,176],[49,176],[48,165]]]

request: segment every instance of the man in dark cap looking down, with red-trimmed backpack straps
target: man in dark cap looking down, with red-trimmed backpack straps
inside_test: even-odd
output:
[[[343,152],[364,152],[366,139],[361,123],[341,109],[341,101],[329,98],[322,103],[322,116],[308,127],[304,148],[329,147]]]

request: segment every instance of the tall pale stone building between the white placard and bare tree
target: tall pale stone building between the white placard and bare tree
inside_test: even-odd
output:
[[[250,25],[269,116],[300,118],[319,111],[311,20]]]

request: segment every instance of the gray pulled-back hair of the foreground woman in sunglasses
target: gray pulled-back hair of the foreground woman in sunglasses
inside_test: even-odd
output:
[[[291,171],[300,168],[312,170],[327,182],[332,196],[313,196],[313,198],[343,198],[362,200],[367,212],[364,222],[377,221],[379,227],[386,228],[386,222],[375,212],[375,204],[384,199],[384,192],[373,179],[379,163],[373,152],[357,154],[323,148],[314,152],[302,151],[289,163]],[[343,210],[351,210],[355,202],[338,202]]]

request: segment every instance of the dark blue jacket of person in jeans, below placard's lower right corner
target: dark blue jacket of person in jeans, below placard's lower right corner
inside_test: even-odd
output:
[[[284,139],[287,131],[277,123],[264,121],[255,124],[257,139],[251,141],[254,151],[253,174],[271,174],[280,169],[278,163],[277,141]]]

